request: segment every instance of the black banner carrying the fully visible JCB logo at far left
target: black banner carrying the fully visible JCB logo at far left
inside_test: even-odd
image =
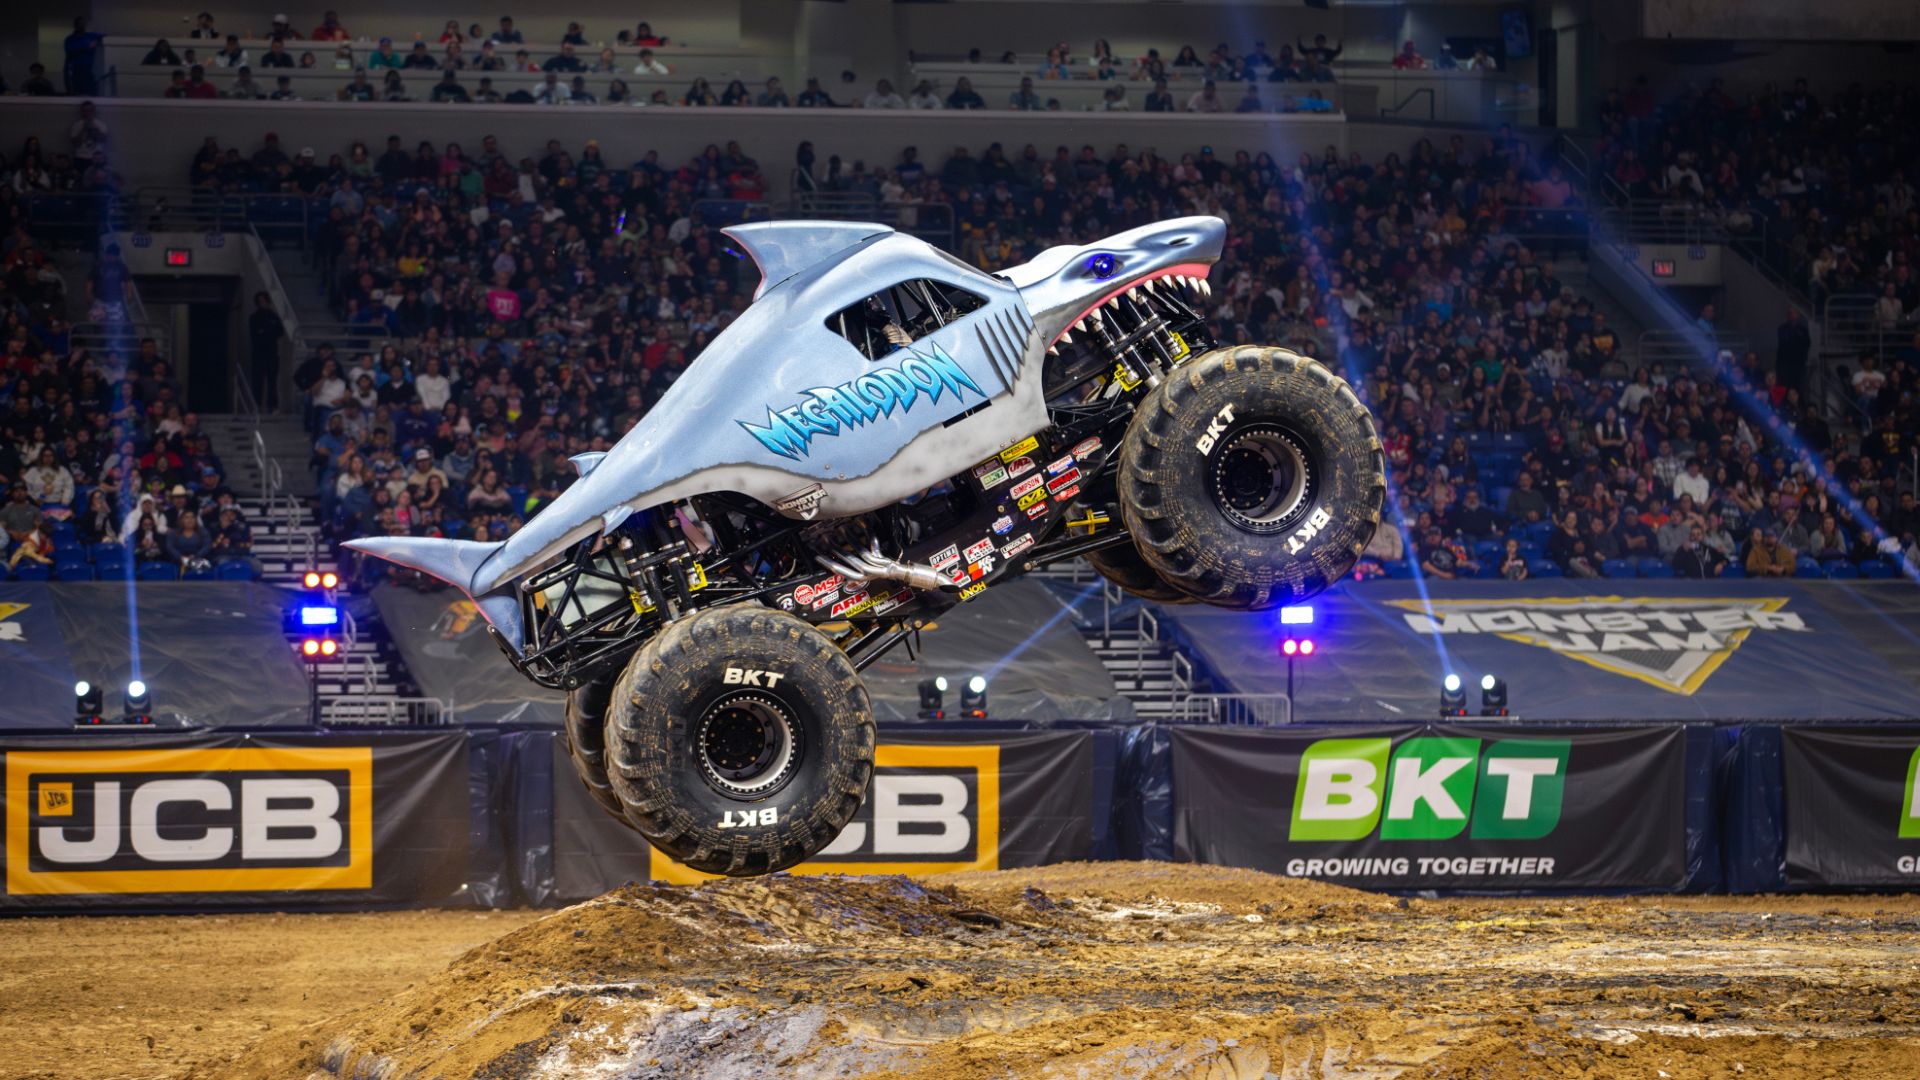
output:
[[[467,865],[467,740],[44,738],[0,748],[4,907],[438,899]]]

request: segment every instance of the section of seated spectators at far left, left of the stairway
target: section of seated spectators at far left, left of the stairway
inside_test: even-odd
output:
[[[73,163],[0,163],[0,577],[252,577],[246,515],[156,342],[73,344],[69,311],[127,319],[127,263],[109,246],[69,288],[25,229],[27,171],[71,183]]]

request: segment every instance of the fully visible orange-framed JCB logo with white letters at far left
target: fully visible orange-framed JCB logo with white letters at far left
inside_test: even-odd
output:
[[[6,890],[372,888],[372,749],[6,755]]]

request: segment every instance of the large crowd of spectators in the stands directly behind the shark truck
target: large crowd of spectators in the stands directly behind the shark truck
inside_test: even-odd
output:
[[[755,198],[760,169],[737,144],[678,165],[614,165],[591,142],[515,156],[388,140],[326,163],[209,144],[202,165],[205,183],[323,204],[315,252],[340,315],[394,334],[296,373],[338,534],[511,530],[753,292],[751,263],[695,206]],[[1905,444],[1836,432],[1805,365],[1630,367],[1605,313],[1559,279],[1553,223],[1580,213],[1567,179],[1507,135],[1380,161],[989,146],[824,169],[803,148],[797,165],[902,204],[908,225],[950,215],[956,254],[985,271],[1171,215],[1229,219],[1219,340],[1329,357],[1380,417],[1405,530],[1382,530],[1363,573],[1772,573],[1772,542],[1791,573],[1809,573],[1799,555],[1880,573],[1920,528],[1893,494]],[[1882,377],[1887,430],[1914,430],[1912,361]]]

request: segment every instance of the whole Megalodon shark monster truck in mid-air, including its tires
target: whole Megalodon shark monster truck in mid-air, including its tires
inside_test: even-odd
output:
[[[348,544],[472,596],[568,694],[593,798],[693,869],[833,842],[874,773],[860,669],[939,611],[1073,557],[1156,601],[1275,607],[1379,525],[1348,384],[1208,340],[1215,217],[993,275],[883,225],[726,234],[753,304],[518,532]]]

